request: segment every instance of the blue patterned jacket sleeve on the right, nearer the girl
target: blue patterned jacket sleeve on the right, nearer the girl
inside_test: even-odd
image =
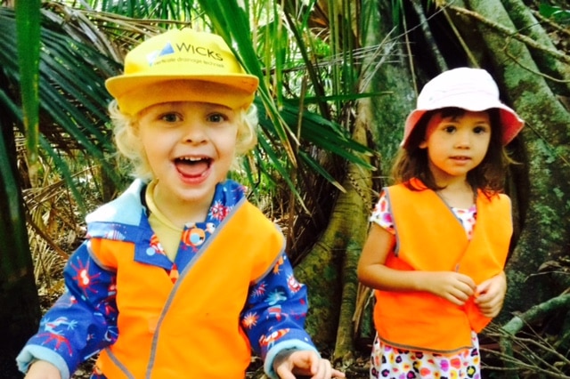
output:
[[[311,337],[305,331],[308,310],[306,287],[297,282],[285,252],[264,278],[250,288],[241,325],[253,351],[265,360],[265,373],[277,378],[273,360],[281,351],[311,350]]]

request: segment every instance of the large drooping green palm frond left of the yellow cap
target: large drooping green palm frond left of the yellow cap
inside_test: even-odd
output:
[[[0,39],[0,62],[11,84],[11,92],[5,97],[9,109],[18,108],[17,98],[21,91],[19,67],[13,60],[17,54],[14,47],[14,17],[12,10],[0,8],[0,33],[5,36]],[[104,79],[117,74],[120,65],[90,45],[67,36],[61,25],[49,19],[44,19],[42,24],[37,77],[41,119],[37,129],[40,135],[34,139],[29,136],[27,129],[22,133],[27,141],[30,138],[34,141],[34,149],[42,147],[39,154],[56,158],[56,168],[77,195],[66,160],[61,158],[61,154],[74,157],[76,151],[83,151],[86,156],[93,157],[103,165],[107,162],[106,157],[114,148],[110,130],[106,126],[106,104],[110,101],[110,95],[104,89]],[[22,114],[13,112],[13,117],[17,120],[16,126],[24,125],[25,117]],[[113,168],[109,164],[106,166],[111,177],[118,181]],[[81,198],[76,200],[83,204]]]

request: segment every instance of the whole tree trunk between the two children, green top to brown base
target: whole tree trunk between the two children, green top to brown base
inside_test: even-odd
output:
[[[309,288],[308,330],[321,346],[336,341],[334,359],[345,364],[350,362],[355,348],[354,332],[360,333],[354,326],[361,321],[370,324],[370,319],[362,319],[366,318],[365,310],[357,310],[354,302],[359,292],[364,296],[370,294],[362,291],[362,287],[359,291],[356,264],[368,233],[371,208],[383,184],[379,178],[385,173],[380,166],[387,167],[395,154],[402,136],[397,131],[403,130],[401,119],[411,109],[413,98],[411,72],[408,61],[403,59],[404,44],[391,35],[391,9],[389,5],[383,8],[386,4],[378,5],[374,1],[362,2],[362,29],[357,34],[362,35],[362,45],[373,46],[374,52],[362,60],[362,67],[367,69],[361,73],[358,92],[386,94],[356,102],[357,116],[352,129],[355,141],[372,144],[378,150],[374,159],[379,170],[371,173],[356,165],[347,166],[343,182],[346,193],[339,195],[330,223],[314,249],[296,267],[298,279]]]

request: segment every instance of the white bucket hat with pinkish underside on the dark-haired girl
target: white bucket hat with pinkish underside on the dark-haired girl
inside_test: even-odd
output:
[[[499,109],[504,145],[512,141],[525,125],[513,109],[501,103],[499,87],[485,69],[450,69],[431,79],[419,93],[417,107],[406,119],[402,146],[428,110],[450,107],[474,112]]]

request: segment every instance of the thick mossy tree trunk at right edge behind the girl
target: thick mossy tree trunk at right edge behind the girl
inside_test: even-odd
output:
[[[516,30],[500,2],[468,4],[482,17]],[[526,310],[566,289],[552,286],[548,276],[529,278],[528,274],[542,262],[566,256],[570,246],[570,115],[540,75],[525,44],[483,23],[477,23],[477,28],[502,94],[526,123],[522,139],[529,157],[530,203],[525,229],[509,261],[509,293],[503,312]]]

